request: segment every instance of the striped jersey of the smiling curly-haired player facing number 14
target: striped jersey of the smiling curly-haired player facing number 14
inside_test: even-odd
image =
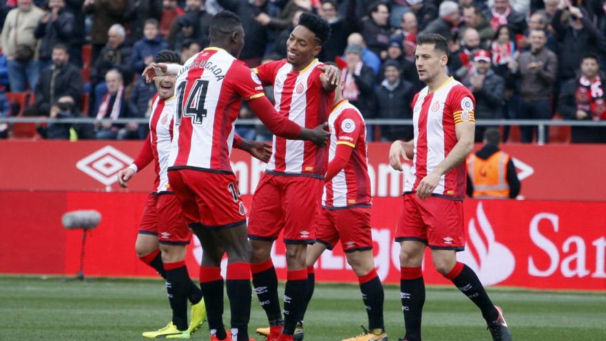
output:
[[[328,117],[333,92],[322,87],[318,66],[314,59],[300,72],[286,59],[272,61],[253,69],[264,85],[273,85],[275,110],[301,127],[313,129]],[[273,136],[273,150],[266,168],[273,174],[296,174],[322,177],[326,172],[326,147],[317,147],[309,141],[286,140]]]

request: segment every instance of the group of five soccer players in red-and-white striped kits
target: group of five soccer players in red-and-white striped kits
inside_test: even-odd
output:
[[[220,12],[211,21],[208,48],[183,65],[176,52],[160,51],[143,72],[158,90],[149,136],[132,165],[118,173],[118,183],[127,187],[136,172],[153,164],[156,180],[136,251],[165,278],[172,311],[166,327],[143,336],[188,339],[207,322],[211,341],[254,340],[248,333],[254,291],[267,314],[267,326],[257,333],[268,341],[314,340],[303,327],[313,297],[313,265],[340,243],[368,315],[368,327],[346,340],[387,341],[384,290],[373,260],[364,117],[342,98],[342,71],[316,58],[330,25],[302,14],[286,43],[286,59],[253,69],[238,60],[244,34],[236,14]],[[427,86],[410,103],[414,138],[395,141],[388,156],[400,171],[402,160],[412,160],[395,234],[405,327],[396,339],[421,340],[421,262],[428,248],[437,271],[479,308],[492,340],[511,340],[503,311],[456,258],[465,246],[464,160],[473,147],[474,97],[446,73],[443,37],[424,34],[417,44],[417,71]],[[274,103],[264,94],[267,88]],[[235,134],[242,100],[273,133],[271,144]],[[249,210],[229,162],[233,148],[267,162]],[[185,266],[192,234],[202,246],[199,286]],[[280,234],[288,267],[282,299],[270,256]],[[224,289],[229,328],[223,323]]]

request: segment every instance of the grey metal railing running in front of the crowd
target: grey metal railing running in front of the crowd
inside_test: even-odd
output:
[[[98,121],[96,118],[49,118],[49,117],[0,117],[0,123],[149,123],[149,118],[117,118]],[[538,127],[537,143],[545,144],[546,127],[606,127],[606,121],[561,121],[561,120],[482,120],[479,126],[536,126]],[[262,125],[258,119],[238,119],[236,125]],[[375,119],[366,120],[366,125],[412,125],[412,120]]]

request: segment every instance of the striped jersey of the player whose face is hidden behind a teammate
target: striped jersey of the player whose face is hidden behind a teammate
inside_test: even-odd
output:
[[[322,206],[371,205],[364,117],[355,106],[344,100],[337,103],[328,115],[328,127],[331,128],[328,162],[335,158],[337,145],[348,145],[354,150],[344,169],[324,185]]]

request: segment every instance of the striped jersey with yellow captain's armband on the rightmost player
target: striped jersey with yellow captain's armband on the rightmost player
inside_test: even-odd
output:
[[[457,144],[454,126],[474,123],[475,99],[467,87],[448,79],[435,92],[425,87],[412,100],[412,125],[415,130],[415,157],[404,192],[415,192],[419,183],[450,153]],[[467,186],[465,163],[444,174],[433,194],[464,198]]]

